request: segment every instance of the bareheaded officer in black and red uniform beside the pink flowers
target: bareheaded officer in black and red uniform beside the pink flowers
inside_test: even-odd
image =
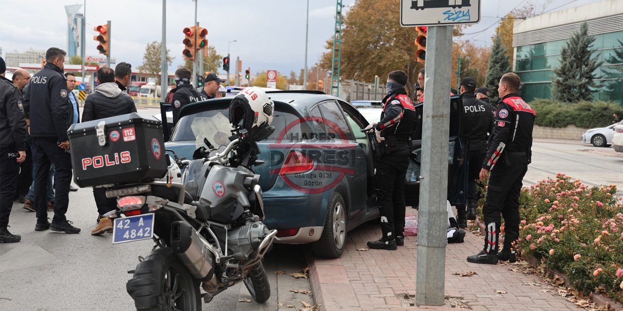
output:
[[[497,264],[498,260],[515,262],[513,243],[519,238],[519,195],[521,180],[531,159],[532,129],[535,111],[517,93],[521,80],[515,73],[505,73],[500,79],[495,127],[489,141],[487,157],[480,170],[480,179],[489,184],[483,214],[487,226],[485,246],[467,261],[478,264]],[[504,248],[499,249],[500,213],[504,217]]]

